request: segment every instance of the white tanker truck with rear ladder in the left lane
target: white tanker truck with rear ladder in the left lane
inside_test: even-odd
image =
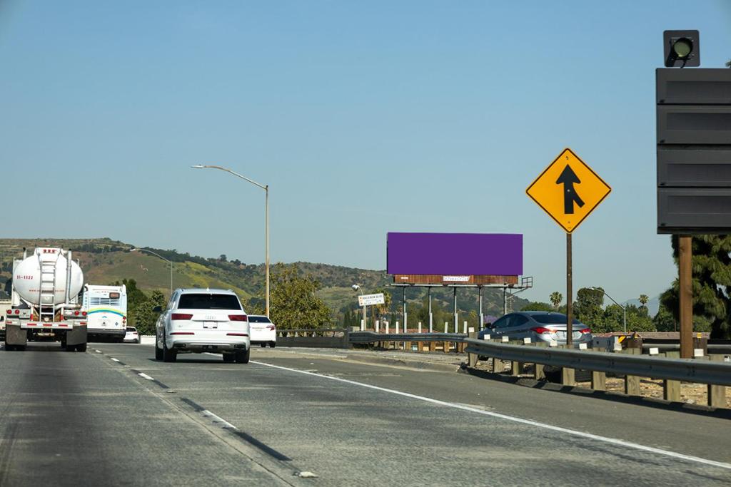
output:
[[[86,351],[86,311],[78,294],[84,275],[71,250],[36,248],[12,263],[11,307],[5,316],[5,350],[51,337],[69,351]]]

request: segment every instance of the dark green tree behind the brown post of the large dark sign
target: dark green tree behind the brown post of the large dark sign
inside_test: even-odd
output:
[[[673,235],[673,258],[678,264],[678,237]],[[710,326],[711,337],[731,335],[729,290],[731,286],[731,236],[694,235],[692,238],[693,323]],[[679,322],[678,280],[660,296],[660,304]],[[695,330],[694,331],[700,331]]]

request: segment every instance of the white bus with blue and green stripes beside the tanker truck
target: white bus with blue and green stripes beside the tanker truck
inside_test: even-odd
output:
[[[124,341],[127,329],[127,288],[123,285],[85,284],[82,309],[86,310],[88,337]]]

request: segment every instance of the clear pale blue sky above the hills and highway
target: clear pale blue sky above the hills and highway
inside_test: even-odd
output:
[[[385,269],[387,231],[524,234],[524,296],[565,294],[525,194],[564,147],[613,192],[575,289],[654,296],[662,31],[731,58],[731,1],[0,1],[7,237]],[[65,188],[65,189],[63,189]],[[61,191],[63,190],[63,191]],[[43,218],[48,217],[48,218]]]

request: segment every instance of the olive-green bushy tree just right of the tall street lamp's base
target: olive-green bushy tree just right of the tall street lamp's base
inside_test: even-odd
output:
[[[280,329],[319,328],[331,321],[330,308],[315,294],[319,282],[300,276],[295,264],[276,264],[271,283],[269,312]]]

